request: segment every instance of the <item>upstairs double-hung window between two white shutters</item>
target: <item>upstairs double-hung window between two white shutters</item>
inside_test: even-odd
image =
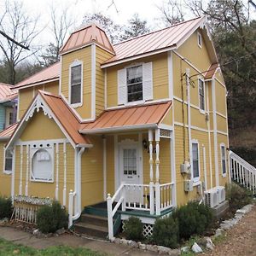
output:
[[[127,68],[127,101],[143,100],[143,66]]]

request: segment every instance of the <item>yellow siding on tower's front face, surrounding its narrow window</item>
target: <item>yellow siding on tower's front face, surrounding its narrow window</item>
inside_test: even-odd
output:
[[[75,108],[81,118],[91,118],[91,46],[62,55],[61,94],[68,101],[69,67],[73,61],[83,62],[83,106]]]

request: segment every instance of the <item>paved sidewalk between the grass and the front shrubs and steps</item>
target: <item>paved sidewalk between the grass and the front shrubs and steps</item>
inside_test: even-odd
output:
[[[110,243],[108,241],[95,241],[69,234],[53,236],[49,238],[36,238],[35,236],[32,236],[32,234],[29,234],[22,230],[17,230],[12,227],[0,226],[0,237],[7,241],[13,241],[17,244],[22,244],[27,247],[33,247],[35,249],[44,249],[47,247],[65,245],[70,247],[87,247],[91,250],[108,253],[111,255],[159,255],[158,253],[144,252],[143,250],[139,250],[137,248],[131,248],[125,245]]]

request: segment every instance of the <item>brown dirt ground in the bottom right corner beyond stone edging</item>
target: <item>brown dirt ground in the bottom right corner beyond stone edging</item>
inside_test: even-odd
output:
[[[228,230],[223,241],[207,256],[256,256],[256,206]]]

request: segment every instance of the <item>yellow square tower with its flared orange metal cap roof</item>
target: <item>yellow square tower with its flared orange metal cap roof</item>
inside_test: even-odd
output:
[[[73,32],[60,51],[60,94],[81,120],[94,120],[104,109],[102,62],[114,50],[100,26],[91,24]]]

